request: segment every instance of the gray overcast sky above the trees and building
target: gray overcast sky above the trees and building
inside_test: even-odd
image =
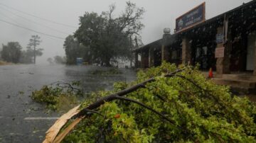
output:
[[[206,1],[206,19],[209,19],[240,6],[243,2],[247,3],[250,0],[132,0],[137,6],[144,7],[146,10],[142,21],[145,25],[142,30],[142,40],[144,44],[161,38],[164,28],[171,28],[171,33],[173,33],[175,19],[191,8],[203,3],[203,1]],[[115,15],[117,16],[124,9],[125,0],[0,0],[0,4],[11,6],[41,18],[47,18],[67,25],[74,25],[78,28],[78,18],[82,16],[85,11],[101,13],[102,11],[107,11],[110,4],[116,4],[117,10],[115,11]],[[19,18],[10,13],[10,11],[36,23],[54,28],[55,30],[25,21],[23,18]],[[13,11],[4,6],[0,6],[0,19],[61,38],[67,37],[68,33],[73,34],[76,30],[76,28],[68,28],[62,25],[41,21],[38,18],[24,15],[23,13]],[[60,33],[56,30],[60,30],[64,33]],[[23,50],[25,50],[29,38],[31,35],[35,34],[37,33],[23,30],[14,25],[0,21],[0,43],[2,44],[17,41],[20,42]],[[40,47],[44,49],[43,56],[38,57],[39,64],[46,63],[48,57],[65,55],[63,50],[64,40],[49,38],[41,34],[37,35],[41,36],[43,42]]]

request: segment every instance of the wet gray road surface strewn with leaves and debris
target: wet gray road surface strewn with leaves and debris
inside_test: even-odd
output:
[[[31,91],[55,81],[81,81],[85,91],[111,89],[115,81],[132,81],[135,73],[92,75],[102,67],[65,65],[12,65],[0,67],[0,142],[42,142],[48,127],[60,115],[46,113],[43,105],[31,101]]]

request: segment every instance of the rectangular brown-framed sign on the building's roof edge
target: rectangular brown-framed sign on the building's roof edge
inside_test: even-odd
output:
[[[206,3],[196,6],[191,11],[176,18],[176,33],[202,23],[206,20]]]

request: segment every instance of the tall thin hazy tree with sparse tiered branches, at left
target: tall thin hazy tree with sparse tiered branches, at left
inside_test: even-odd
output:
[[[40,45],[42,41],[38,35],[32,35],[28,43],[28,50],[33,48],[33,63],[36,64],[36,56],[43,55],[42,48],[36,49],[36,46]]]

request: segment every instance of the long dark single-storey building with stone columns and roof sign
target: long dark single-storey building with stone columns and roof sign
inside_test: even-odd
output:
[[[189,16],[198,21],[184,19]],[[201,4],[177,18],[174,31],[171,35],[166,29],[160,40],[133,50],[135,67],[159,66],[165,60],[198,63],[201,70],[212,68],[219,77],[237,73],[256,75],[256,0],[208,20],[205,4]],[[255,84],[256,78],[254,88]]]

